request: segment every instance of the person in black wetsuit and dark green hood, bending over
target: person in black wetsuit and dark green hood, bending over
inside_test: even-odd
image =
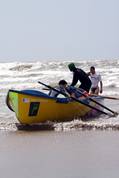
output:
[[[86,72],[84,72],[82,69],[76,68],[74,63],[70,63],[68,65],[69,70],[73,72],[73,80],[71,83],[71,86],[75,86],[78,81],[80,81],[79,88],[82,88],[83,90],[89,92],[91,88],[91,80]]]

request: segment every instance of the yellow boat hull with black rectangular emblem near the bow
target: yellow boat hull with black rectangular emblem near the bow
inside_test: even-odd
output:
[[[91,103],[90,103],[91,104]],[[29,92],[9,90],[7,105],[16,114],[22,124],[34,124],[45,121],[64,122],[83,117],[91,108],[76,101],[61,102],[57,98],[29,94]],[[94,103],[93,103],[94,105]]]

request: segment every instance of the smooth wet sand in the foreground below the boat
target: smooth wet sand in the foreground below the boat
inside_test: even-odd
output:
[[[118,131],[0,131],[3,178],[118,178]]]

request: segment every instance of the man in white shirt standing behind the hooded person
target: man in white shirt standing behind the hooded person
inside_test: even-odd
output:
[[[103,92],[102,78],[100,74],[96,73],[94,66],[90,67],[90,72],[88,73],[88,75],[92,82],[90,94],[98,95],[99,93],[102,93]]]

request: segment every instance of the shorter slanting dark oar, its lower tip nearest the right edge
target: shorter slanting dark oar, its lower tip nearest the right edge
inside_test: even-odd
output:
[[[85,95],[83,92],[81,92],[80,90],[78,90],[78,92],[79,92],[80,94],[82,94],[84,97],[86,97],[86,98],[88,98],[89,100],[93,101],[94,103],[98,104],[98,105],[101,106],[102,108],[105,108],[105,109],[107,109],[108,111],[112,112],[115,116],[118,115],[117,112],[115,112],[115,111],[111,110],[110,108],[104,106],[103,104],[97,102],[96,100],[92,99],[91,97],[86,96],[86,95]],[[97,96],[98,96],[98,95],[97,95]]]

